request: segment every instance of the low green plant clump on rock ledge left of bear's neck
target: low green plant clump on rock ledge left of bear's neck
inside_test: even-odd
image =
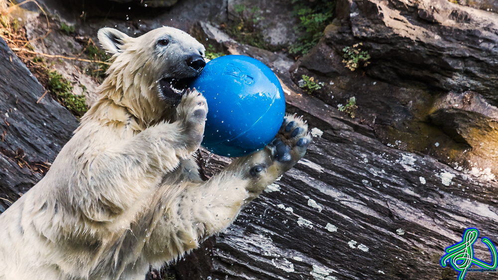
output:
[[[66,107],[74,116],[81,117],[88,106],[85,103],[87,98],[83,95],[74,95],[71,82],[64,79],[57,71],[48,71],[48,90],[64,107]]]

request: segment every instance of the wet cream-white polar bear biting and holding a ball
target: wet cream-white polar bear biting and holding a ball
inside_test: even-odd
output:
[[[203,181],[193,153],[208,107],[184,88],[204,47],[171,27],[98,37],[113,54],[100,98],[47,175],[0,215],[0,280],[144,279],[227,228],[310,142],[287,115],[267,147]]]

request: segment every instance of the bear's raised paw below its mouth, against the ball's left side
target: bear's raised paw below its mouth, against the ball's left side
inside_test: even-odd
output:
[[[187,149],[196,151],[201,145],[208,113],[206,98],[198,91],[187,89],[176,108],[177,121],[184,129]]]

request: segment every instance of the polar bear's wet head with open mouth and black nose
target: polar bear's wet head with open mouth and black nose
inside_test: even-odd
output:
[[[101,92],[143,121],[161,118],[178,104],[206,62],[205,48],[189,34],[163,26],[133,38],[102,28],[99,41],[112,54]]]

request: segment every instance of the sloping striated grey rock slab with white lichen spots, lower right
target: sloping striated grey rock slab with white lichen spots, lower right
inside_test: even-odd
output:
[[[315,132],[307,154],[178,262],[180,279],[456,279],[439,260],[465,228],[498,238],[495,181],[386,147],[322,101],[286,97]],[[226,164],[215,156],[205,173]],[[490,260],[486,247],[478,255]]]

